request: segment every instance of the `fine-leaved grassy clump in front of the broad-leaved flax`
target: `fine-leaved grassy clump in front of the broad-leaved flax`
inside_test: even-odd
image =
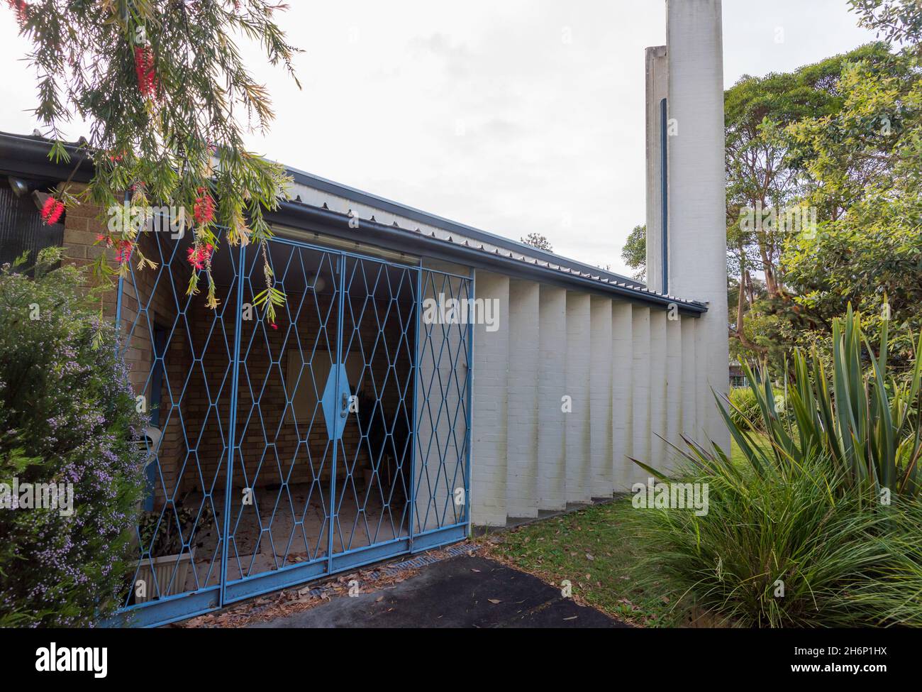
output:
[[[688,470],[691,471],[691,470]],[[636,566],[678,607],[734,626],[922,626],[922,505],[870,508],[824,459],[759,474],[711,459],[682,483],[708,483],[708,513],[642,509]],[[780,591],[783,588],[784,591]]]

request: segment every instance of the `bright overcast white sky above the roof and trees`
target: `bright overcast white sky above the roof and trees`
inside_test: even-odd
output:
[[[644,222],[644,47],[665,42],[663,0],[289,2],[279,17],[304,49],[303,89],[245,51],[277,112],[255,151],[625,271],[621,245]],[[35,79],[0,12],[0,130],[29,133]],[[873,38],[845,0],[724,0],[724,81]]]

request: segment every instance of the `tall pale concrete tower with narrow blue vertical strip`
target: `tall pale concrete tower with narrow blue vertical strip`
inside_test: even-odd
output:
[[[667,0],[666,7],[667,45],[646,51],[647,287],[708,304],[696,329],[696,348],[706,354],[699,367],[707,388],[726,392],[721,0]],[[729,447],[710,401],[695,435]]]

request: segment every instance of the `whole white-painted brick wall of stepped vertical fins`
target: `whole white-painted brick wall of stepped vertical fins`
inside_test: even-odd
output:
[[[477,293],[500,300],[500,329],[475,328],[474,523],[629,491],[648,475],[629,456],[669,471],[656,430],[678,440],[697,426],[701,439],[698,318],[482,271]]]

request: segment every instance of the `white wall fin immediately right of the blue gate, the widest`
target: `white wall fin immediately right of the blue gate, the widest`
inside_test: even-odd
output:
[[[506,432],[509,376],[509,277],[477,271],[477,298],[499,301],[497,324],[474,327],[471,519],[475,524],[506,523]]]

